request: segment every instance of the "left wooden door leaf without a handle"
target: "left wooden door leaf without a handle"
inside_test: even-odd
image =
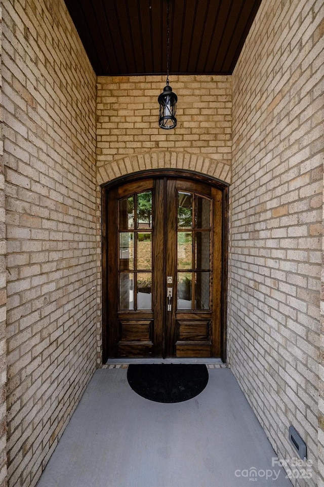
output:
[[[155,356],[161,349],[162,319],[153,302],[154,255],[159,253],[153,239],[153,186],[149,179],[108,194],[107,321],[112,357]]]

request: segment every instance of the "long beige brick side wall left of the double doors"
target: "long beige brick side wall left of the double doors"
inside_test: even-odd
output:
[[[3,30],[16,487],[35,485],[96,366],[96,77],[62,0],[4,0]]]

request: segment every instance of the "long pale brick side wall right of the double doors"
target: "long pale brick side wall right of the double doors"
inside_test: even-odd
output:
[[[298,485],[317,484],[323,24],[322,2],[264,1],[232,77],[229,360],[278,456],[289,425],[305,439]]]

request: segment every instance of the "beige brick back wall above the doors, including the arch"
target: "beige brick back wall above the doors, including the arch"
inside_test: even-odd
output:
[[[163,76],[99,76],[98,183],[152,168],[205,172],[230,181],[231,77],[170,76],[177,127],[158,127]]]

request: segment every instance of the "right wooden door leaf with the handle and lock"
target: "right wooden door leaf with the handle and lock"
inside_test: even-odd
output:
[[[177,208],[168,213],[166,265],[168,275],[176,273],[176,301],[166,319],[165,353],[220,356],[222,258],[216,254],[221,254],[222,244],[222,192],[203,183],[172,180],[167,202],[172,201]]]

